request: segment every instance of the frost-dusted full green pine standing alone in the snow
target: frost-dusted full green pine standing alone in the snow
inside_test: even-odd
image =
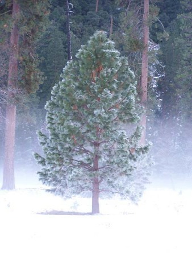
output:
[[[34,154],[38,174],[57,194],[91,191],[92,213],[99,213],[101,192],[140,193],[133,195],[131,184],[148,146],[137,146],[135,76],[106,33],[97,31],[61,77],[45,105],[48,134],[38,132],[44,151]],[[131,124],[127,133],[124,127]],[[144,180],[145,172],[139,175]]]

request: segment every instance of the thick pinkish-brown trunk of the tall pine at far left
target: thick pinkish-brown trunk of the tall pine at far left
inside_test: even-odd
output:
[[[19,33],[16,25],[16,16],[19,13],[19,5],[14,0],[12,2],[12,18],[14,26],[11,31],[10,38],[10,59],[9,59],[9,76],[8,76],[8,92],[9,101],[13,101],[12,91],[17,86],[18,80],[18,42]],[[15,188],[14,177],[14,146],[15,146],[15,121],[16,121],[16,106],[14,103],[7,103],[6,106],[6,131],[5,131],[5,158],[3,168],[3,189]]]

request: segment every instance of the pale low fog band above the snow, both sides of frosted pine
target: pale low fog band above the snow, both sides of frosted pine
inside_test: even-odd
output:
[[[152,142],[149,154],[153,165],[148,189],[172,189],[182,191],[192,188],[192,136],[190,123],[177,127],[173,123],[156,123],[148,121],[147,139]],[[41,127],[44,125],[40,123]],[[23,130],[24,129],[24,130]],[[41,185],[36,171],[40,170],[32,156],[32,152],[40,152],[36,129],[23,125],[16,130],[15,143],[15,186],[36,187]],[[2,130],[3,132],[3,130]],[[3,137],[0,147],[0,186],[3,172]]]

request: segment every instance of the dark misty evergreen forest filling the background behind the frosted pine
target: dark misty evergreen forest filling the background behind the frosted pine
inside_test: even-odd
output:
[[[0,160],[5,151],[6,103],[9,88],[9,35],[12,1],[0,1]],[[32,152],[40,151],[36,130],[45,129],[44,105],[68,61],[69,23],[72,59],[96,30],[108,32],[128,57],[140,95],[143,51],[142,0],[71,0],[25,2],[31,18],[21,25],[16,104],[15,166],[36,170]],[[32,3],[38,2],[35,7]],[[41,4],[39,3],[41,2]],[[24,9],[26,8],[26,9]],[[153,143],[153,170],[190,173],[192,165],[192,5],[189,0],[149,1],[147,140]],[[24,23],[22,23],[24,24]],[[31,26],[31,34],[26,27]],[[40,27],[38,27],[40,26]],[[27,30],[28,31],[28,30]],[[31,40],[33,35],[34,41]],[[36,38],[35,38],[36,36]],[[30,40],[28,40],[30,38]],[[28,57],[26,57],[28,56]],[[27,68],[26,68],[27,67]],[[32,72],[30,72],[32,71]],[[33,74],[37,74],[34,76]],[[34,78],[35,77],[35,78]],[[28,79],[28,80],[27,80]],[[12,95],[12,94],[11,94]],[[168,167],[169,166],[169,167]]]

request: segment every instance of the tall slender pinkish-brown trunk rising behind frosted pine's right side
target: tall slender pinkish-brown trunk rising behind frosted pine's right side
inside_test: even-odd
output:
[[[146,110],[147,110],[147,84],[148,84],[148,38],[149,38],[149,0],[144,0],[143,14],[143,53],[141,66],[141,105],[144,107],[145,113],[141,117],[140,124],[144,127],[140,144],[145,144],[146,137]]]

